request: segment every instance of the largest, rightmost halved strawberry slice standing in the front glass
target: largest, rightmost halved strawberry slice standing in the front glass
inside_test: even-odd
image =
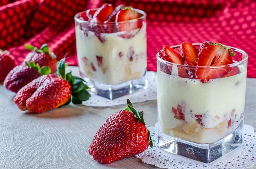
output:
[[[206,42],[201,45],[198,55],[198,66],[222,66],[233,63],[232,56],[235,55],[230,48],[220,43]],[[210,79],[221,78],[231,70],[228,68],[198,68],[196,75],[201,82],[205,83]]]

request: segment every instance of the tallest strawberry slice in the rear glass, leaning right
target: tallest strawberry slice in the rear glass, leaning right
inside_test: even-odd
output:
[[[93,18],[98,18],[100,23],[103,23],[108,19],[109,15],[114,11],[114,6],[108,3],[104,3],[93,15]]]

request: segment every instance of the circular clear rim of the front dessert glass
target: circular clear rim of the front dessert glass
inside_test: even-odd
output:
[[[193,45],[195,46],[200,46],[202,43],[192,43]],[[170,46],[172,49],[177,49],[177,47],[180,47],[180,45],[175,45],[175,46]],[[241,64],[243,64],[244,62],[246,62],[248,60],[248,54],[246,52],[244,52],[243,50],[241,49],[238,49],[238,48],[235,48],[235,47],[232,47],[232,46],[226,46],[224,45],[225,47],[228,47],[230,49],[234,49],[235,51],[237,52],[240,52],[241,54],[243,54],[245,57],[244,59],[238,61],[238,62],[235,62],[235,63],[231,63],[231,64],[228,64],[228,65],[221,65],[221,66],[189,66],[189,65],[181,65],[181,64],[177,64],[177,63],[172,63],[172,62],[169,62],[169,61],[166,61],[166,60],[163,60],[162,58],[160,58],[159,56],[159,52],[157,52],[157,60],[160,61],[161,63],[168,63],[168,64],[172,64],[172,65],[177,65],[178,67],[186,67],[186,68],[209,68],[209,69],[218,69],[218,68],[224,68],[224,67],[234,67],[234,66],[239,66]]]

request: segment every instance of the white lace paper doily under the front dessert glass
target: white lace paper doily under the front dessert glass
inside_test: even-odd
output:
[[[201,163],[157,148],[158,126],[148,127],[154,147],[136,155],[144,163],[165,169],[247,169],[256,165],[256,133],[250,125],[243,127],[243,146],[212,163]]]

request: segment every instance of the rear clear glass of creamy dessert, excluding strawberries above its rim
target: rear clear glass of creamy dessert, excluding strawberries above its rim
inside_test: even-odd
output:
[[[123,22],[81,20],[85,11],[75,16],[79,72],[96,95],[112,100],[147,89],[146,14],[134,10],[141,17]]]

